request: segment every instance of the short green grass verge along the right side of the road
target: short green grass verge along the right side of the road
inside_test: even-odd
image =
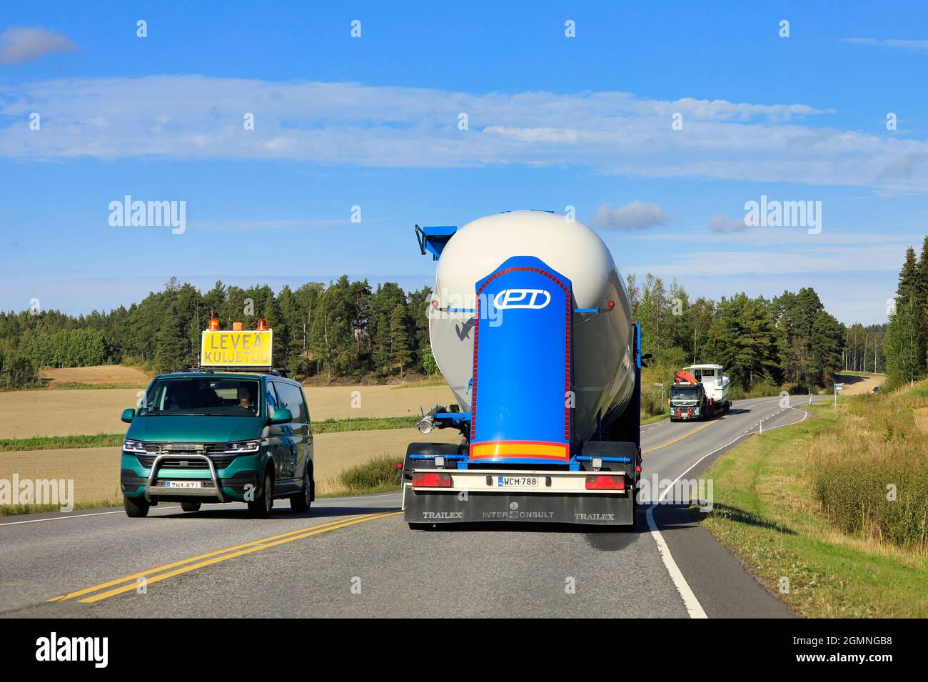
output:
[[[843,402],[837,415],[830,404],[813,405],[806,421],[755,435],[715,461],[703,474],[714,482],[715,499],[702,525],[803,616],[928,616],[928,554],[923,546],[896,545],[885,535],[848,533],[815,493],[823,461],[854,470],[870,456],[857,452],[856,462],[833,457],[859,446],[844,435],[854,400]],[[854,490],[883,491],[876,483],[883,477],[874,480],[871,474],[858,472]],[[853,505],[853,493],[843,499]],[[861,510],[858,506],[857,512]],[[783,578],[787,592],[780,590]]]

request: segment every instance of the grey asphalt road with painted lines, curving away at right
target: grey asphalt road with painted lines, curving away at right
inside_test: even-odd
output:
[[[805,404],[807,399],[793,405]],[[723,418],[642,428],[643,476],[697,479],[728,447],[806,413],[779,398]],[[672,493],[664,501],[674,499]],[[277,501],[185,514],[152,508],[0,520],[0,615],[789,617],[679,505],[641,508],[636,532],[545,525],[410,531],[400,495]]]

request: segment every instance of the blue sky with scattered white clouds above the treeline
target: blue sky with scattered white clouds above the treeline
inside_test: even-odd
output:
[[[163,5],[0,6],[0,308],[172,276],[419,287],[412,225],[574,206],[623,274],[813,286],[870,323],[928,234],[915,4]],[[125,195],[186,201],[186,231],[111,226]],[[820,201],[820,233],[745,228],[762,195]]]

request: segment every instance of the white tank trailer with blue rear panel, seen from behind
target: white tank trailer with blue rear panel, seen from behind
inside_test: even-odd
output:
[[[640,340],[601,239],[548,212],[417,236],[438,260],[432,352],[458,398],[419,431],[462,443],[409,445],[406,521],[634,523]]]

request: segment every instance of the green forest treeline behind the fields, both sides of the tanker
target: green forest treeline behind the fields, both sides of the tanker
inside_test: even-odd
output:
[[[913,256],[914,272],[923,267],[924,254],[918,263]],[[679,367],[718,363],[726,367],[736,393],[783,387],[805,392],[824,387],[839,369],[882,371],[890,350],[885,326],[845,328],[811,288],[772,299],[736,293],[714,301],[690,300],[676,280],[667,286],[651,275],[643,281],[627,277],[626,285],[644,350],[652,355],[649,391],[653,383],[672,380]],[[909,302],[908,287],[900,283],[906,292],[900,310],[917,304]],[[386,282],[375,288],[347,276],[277,292],[266,284],[242,289],[221,281],[200,291],[172,278],[143,301],[109,312],[0,313],[0,387],[34,384],[42,367],[125,363],[157,372],[194,367],[200,331],[211,315],[222,328],[235,321],[255,328],[258,318],[267,319],[275,334],[275,364],[303,380],[431,375],[437,367],[429,346],[430,297],[428,287],[404,291]],[[922,350],[915,353],[921,353],[923,371],[928,335],[924,329],[919,333]]]

